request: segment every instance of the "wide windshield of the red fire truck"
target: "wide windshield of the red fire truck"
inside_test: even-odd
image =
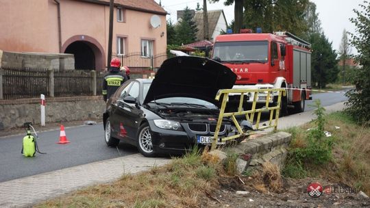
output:
[[[213,57],[219,57],[221,62],[262,62],[268,60],[269,42],[238,41],[216,42]]]

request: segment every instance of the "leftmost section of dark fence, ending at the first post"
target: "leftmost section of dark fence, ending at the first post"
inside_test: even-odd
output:
[[[3,68],[1,80],[3,99],[25,99],[39,97],[40,94],[49,96],[46,68]]]

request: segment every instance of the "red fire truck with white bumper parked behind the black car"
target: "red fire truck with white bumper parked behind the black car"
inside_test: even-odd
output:
[[[213,58],[229,67],[236,75],[234,88],[286,88],[281,110],[288,107],[304,112],[305,100],[312,99],[311,45],[286,31],[274,34],[225,34],[214,40]],[[297,90],[296,90],[297,89]],[[229,97],[229,102],[239,98]],[[267,94],[258,94],[258,103],[266,102]],[[273,94],[277,101],[277,94]],[[244,100],[253,101],[254,94]]]

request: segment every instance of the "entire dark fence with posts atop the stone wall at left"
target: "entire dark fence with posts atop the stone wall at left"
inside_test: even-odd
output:
[[[100,95],[106,72],[95,70],[48,70],[0,68],[0,99],[45,96]]]

